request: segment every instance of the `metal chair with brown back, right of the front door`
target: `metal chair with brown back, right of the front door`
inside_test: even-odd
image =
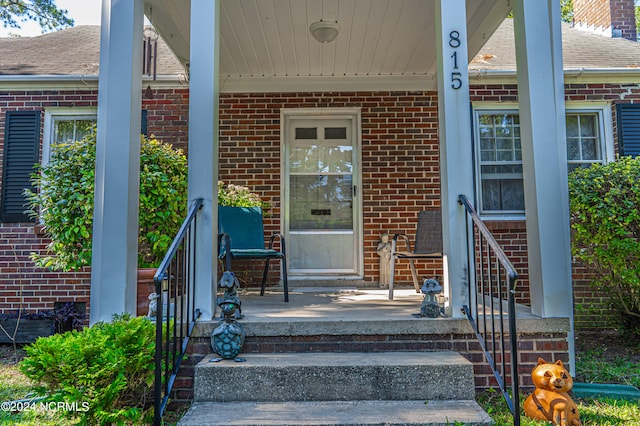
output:
[[[398,248],[398,240],[404,242],[403,250]],[[422,210],[419,213],[413,250],[411,249],[411,240],[406,234],[393,236],[393,240],[391,240],[389,300],[393,300],[395,262],[405,259],[409,260],[416,293],[420,293],[420,283],[414,261],[416,259],[442,259],[442,213],[439,208]]]

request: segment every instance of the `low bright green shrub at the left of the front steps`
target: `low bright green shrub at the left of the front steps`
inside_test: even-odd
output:
[[[76,404],[81,424],[142,423],[153,405],[155,324],[114,317],[27,346],[20,370],[48,400]],[[85,411],[86,410],[86,411]]]

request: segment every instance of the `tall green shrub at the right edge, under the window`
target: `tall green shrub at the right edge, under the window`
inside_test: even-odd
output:
[[[569,198],[574,257],[640,333],[640,157],[576,169]]]

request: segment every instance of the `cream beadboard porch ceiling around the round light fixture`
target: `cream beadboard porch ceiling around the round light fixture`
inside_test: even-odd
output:
[[[145,0],[146,16],[183,64],[189,62],[190,3]],[[509,10],[509,0],[467,0],[469,58]],[[310,35],[320,19],[340,24],[333,43]],[[220,33],[223,87],[306,81],[327,90],[369,80],[380,88],[385,81],[435,88],[432,0],[221,0]]]

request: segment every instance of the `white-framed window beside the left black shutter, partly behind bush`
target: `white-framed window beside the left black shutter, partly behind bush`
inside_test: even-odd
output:
[[[49,162],[51,147],[81,140],[95,129],[95,109],[52,109],[45,111],[42,164]]]

